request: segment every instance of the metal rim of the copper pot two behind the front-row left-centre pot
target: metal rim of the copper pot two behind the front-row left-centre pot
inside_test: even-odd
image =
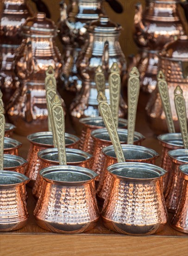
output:
[[[39,146],[39,147],[48,147],[48,148],[53,148],[54,146],[51,144],[44,144],[44,143],[40,143],[40,142],[36,142],[33,141],[35,139],[38,139],[39,137],[53,137],[52,132],[38,132],[38,133],[33,133],[27,136],[27,140],[30,141],[30,143],[32,143],[33,145]],[[65,139],[71,140],[73,141],[72,143],[66,144],[66,146],[73,146],[75,143],[77,143],[80,139],[72,134],[69,133],[65,133]]]

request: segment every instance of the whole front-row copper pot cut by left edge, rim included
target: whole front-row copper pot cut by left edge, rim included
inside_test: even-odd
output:
[[[0,231],[21,229],[28,220],[25,184],[29,179],[20,173],[0,171]]]

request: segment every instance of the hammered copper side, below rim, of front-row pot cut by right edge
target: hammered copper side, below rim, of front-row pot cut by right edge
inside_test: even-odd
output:
[[[188,233],[188,181],[183,181],[182,196],[175,215],[171,220],[171,226],[178,231]]]

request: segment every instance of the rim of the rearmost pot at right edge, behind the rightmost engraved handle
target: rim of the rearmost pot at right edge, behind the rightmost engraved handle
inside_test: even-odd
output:
[[[159,142],[163,145],[163,147],[166,148],[183,148],[183,141],[182,141],[182,146],[181,145],[177,145],[173,142],[167,141],[168,139],[170,139],[171,137],[171,141],[172,140],[179,140],[180,137],[182,138],[181,133],[166,133],[166,134],[161,134],[157,136],[157,139],[159,140]],[[172,146],[172,147],[171,147]]]

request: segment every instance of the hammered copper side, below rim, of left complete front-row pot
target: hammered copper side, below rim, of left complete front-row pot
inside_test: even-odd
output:
[[[94,182],[67,187],[44,181],[34,216],[40,226],[50,231],[85,231],[99,218]]]

